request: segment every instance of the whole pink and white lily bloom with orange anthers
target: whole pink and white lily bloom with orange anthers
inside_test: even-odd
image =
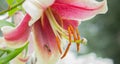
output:
[[[97,14],[107,11],[107,1],[95,0],[26,0],[26,15],[17,27],[2,28],[4,39],[11,47],[19,47],[32,41],[37,57],[36,64],[55,64],[64,58],[72,43],[77,51],[81,42],[78,25]],[[29,40],[29,36],[32,39]],[[69,41],[63,52],[62,38]]]

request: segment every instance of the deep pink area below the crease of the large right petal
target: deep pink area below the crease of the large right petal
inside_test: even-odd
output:
[[[85,4],[86,5],[86,4]],[[104,4],[94,7],[83,5],[72,5],[66,3],[55,3],[51,6],[54,12],[58,13],[63,19],[85,20],[95,16],[104,7]]]

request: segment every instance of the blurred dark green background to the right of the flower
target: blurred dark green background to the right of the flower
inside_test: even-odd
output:
[[[81,36],[87,38],[89,52],[111,58],[120,64],[120,0],[108,0],[108,12],[97,15],[79,26]]]

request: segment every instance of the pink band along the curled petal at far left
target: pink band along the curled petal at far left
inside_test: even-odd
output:
[[[25,43],[30,33],[30,26],[28,26],[28,22],[30,21],[30,19],[31,17],[28,14],[26,14],[26,16],[24,17],[20,25],[18,25],[18,27],[16,27],[13,31],[9,33],[3,33],[5,40],[12,44],[16,44],[19,42]]]

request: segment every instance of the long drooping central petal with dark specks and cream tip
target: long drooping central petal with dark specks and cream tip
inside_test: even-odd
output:
[[[44,17],[43,24],[38,20],[33,26],[37,64],[55,64],[60,55],[55,34],[46,16]]]

